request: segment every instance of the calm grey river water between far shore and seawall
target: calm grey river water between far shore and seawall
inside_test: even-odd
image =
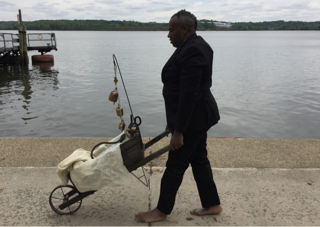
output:
[[[16,33],[16,31],[0,31]],[[51,33],[51,31],[27,31]],[[0,136],[120,134],[112,54],[142,137],[164,131],[161,70],[175,48],[167,32],[55,31],[54,63],[0,65]],[[212,46],[212,93],[221,120],[209,137],[320,139],[319,31],[201,31]],[[130,108],[117,84],[124,120]]]

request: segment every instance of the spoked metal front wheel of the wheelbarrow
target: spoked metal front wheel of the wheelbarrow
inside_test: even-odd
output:
[[[75,213],[80,208],[82,199],[62,210],[59,208],[59,206],[69,199],[76,197],[79,195],[79,193],[80,192],[76,189],[76,187],[72,185],[59,185],[53,189],[49,197],[49,203],[52,210],[60,215],[71,215]]]

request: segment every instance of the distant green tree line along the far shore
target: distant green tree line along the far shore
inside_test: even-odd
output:
[[[235,22],[232,27],[216,26],[214,20],[199,20],[198,31],[253,31],[253,30],[320,30],[320,21],[264,21]],[[224,21],[219,21],[226,23]],[[23,21],[27,30],[60,31],[167,31],[168,23],[139,22],[126,20],[35,20]],[[0,30],[18,30],[17,21],[0,21]]]

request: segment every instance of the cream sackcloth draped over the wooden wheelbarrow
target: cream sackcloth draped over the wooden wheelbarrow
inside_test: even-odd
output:
[[[122,134],[110,142],[118,141]],[[127,140],[129,139],[126,136],[123,142]],[[100,145],[93,151],[94,159],[91,158],[90,151],[75,150],[58,165],[57,174],[61,185],[68,184],[68,172],[80,192],[97,191],[104,187],[112,188],[132,183],[132,174],[123,164],[120,144],[119,142]]]

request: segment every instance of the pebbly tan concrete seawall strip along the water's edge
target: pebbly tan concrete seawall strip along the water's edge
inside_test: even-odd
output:
[[[91,150],[99,142],[112,138],[0,137],[0,166],[56,167],[74,150]],[[143,138],[148,142],[152,138]],[[169,144],[164,138],[147,151]],[[220,139],[208,138],[208,157],[212,167],[320,168],[320,140]],[[152,161],[164,167],[166,154]]]

